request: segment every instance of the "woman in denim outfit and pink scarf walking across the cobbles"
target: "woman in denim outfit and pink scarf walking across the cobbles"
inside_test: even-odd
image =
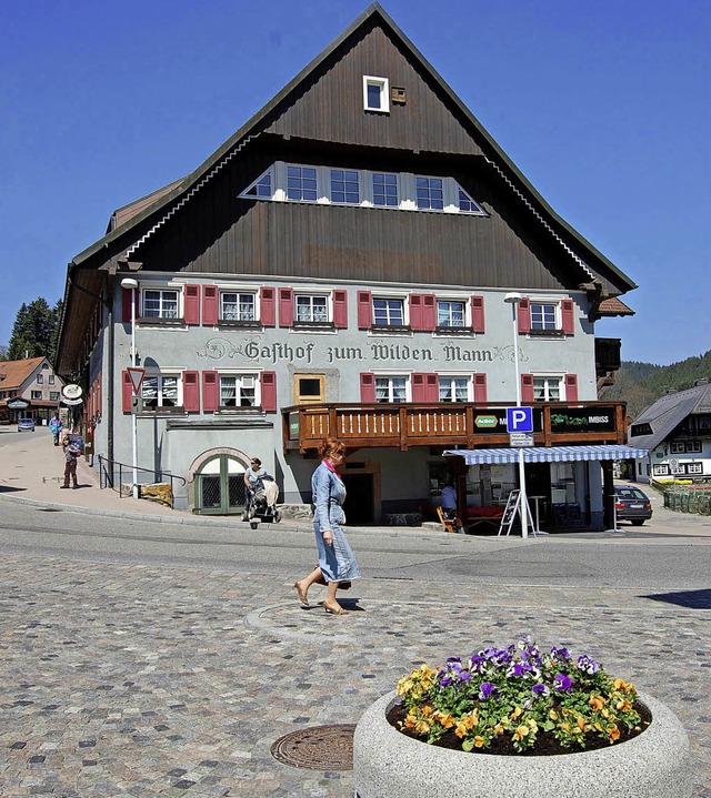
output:
[[[326,584],[323,609],[331,615],[344,615],[347,610],[338,603],[336,592],[341,582],[347,583],[360,576],[358,563],[341,528],[346,521],[346,486],[337,468],[346,458],[346,446],[336,438],[327,437],[319,444],[319,454],[322,457],[321,465],[311,477],[313,532],[319,564],[293,586],[301,604],[308,607],[309,587],[314,583]]]

